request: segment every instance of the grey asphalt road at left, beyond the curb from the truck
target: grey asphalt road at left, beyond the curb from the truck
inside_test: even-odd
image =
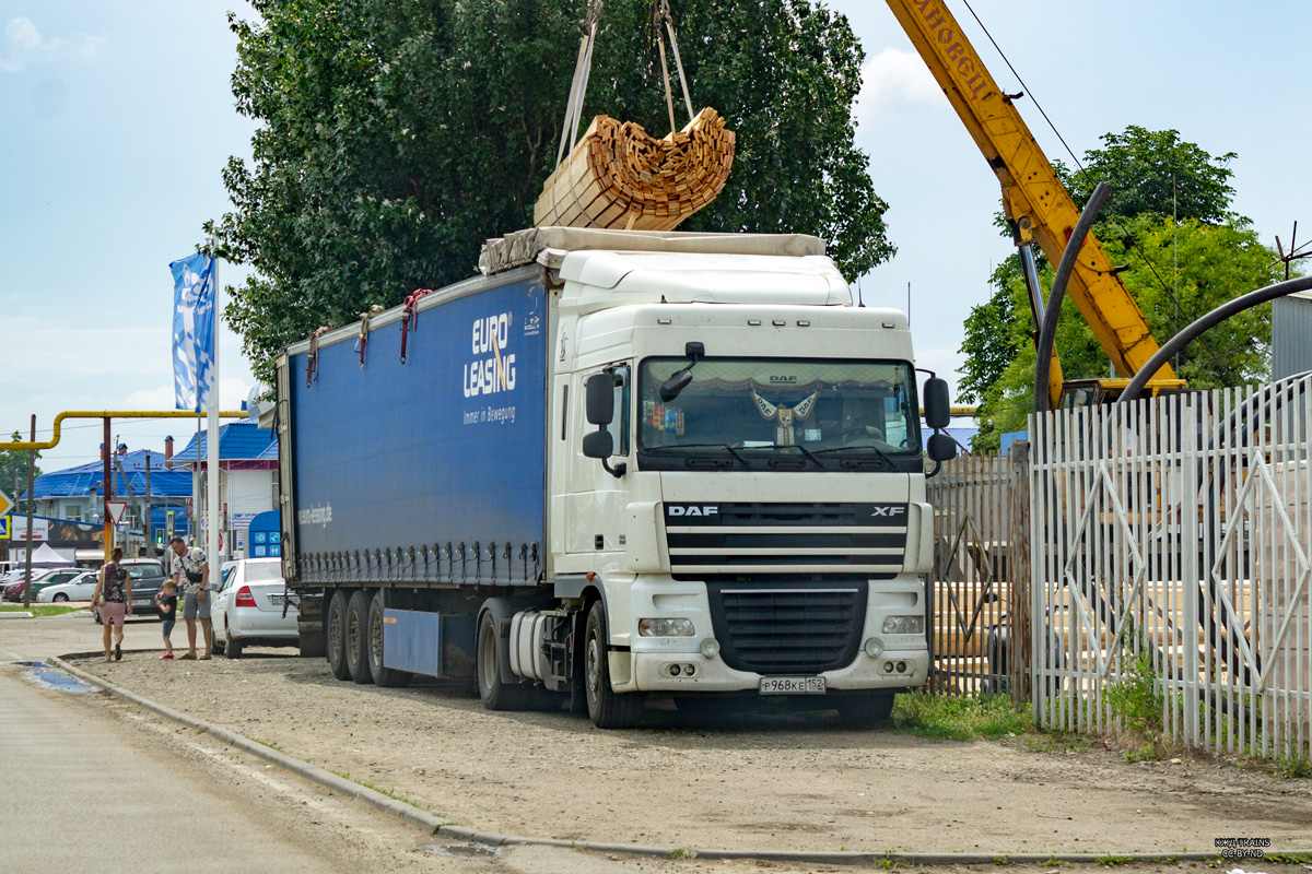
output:
[[[98,632],[85,615],[0,621],[4,874],[697,874],[756,867],[434,840],[104,692],[42,685],[31,668],[16,664],[94,650]],[[157,622],[129,622],[129,649],[157,641]]]

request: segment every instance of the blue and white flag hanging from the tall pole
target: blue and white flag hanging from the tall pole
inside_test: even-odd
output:
[[[216,282],[214,258],[188,256],[173,271],[173,398],[180,410],[197,413],[210,404],[214,387]]]

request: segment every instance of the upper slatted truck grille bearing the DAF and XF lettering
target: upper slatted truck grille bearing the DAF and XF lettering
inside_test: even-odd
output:
[[[905,503],[665,504],[674,579],[890,579],[907,549]]]

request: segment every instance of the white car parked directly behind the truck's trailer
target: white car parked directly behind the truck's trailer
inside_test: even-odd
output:
[[[247,646],[299,643],[297,600],[282,579],[281,558],[243,558],[220,577],[210,611],[216,651],[239,659]]]

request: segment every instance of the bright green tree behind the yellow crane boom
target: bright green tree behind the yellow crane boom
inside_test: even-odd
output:
[[[1102,143],[1103,148],[1085,152],[1082,170],[1056,162],[1055,169],[1081,207],[1098,181],[1111,186],[1094,236],[1113,263],[1131,267],[1120,279],[1160,341],[1220,303],[1275,280],[1275,254],[1261,245],[1248,219],[1231,212],[1235,153],[1215,157],[1181,140],[1177,131],[1134,124],[1102,136]],[[1042,257],[1039,267],[1047,294],[1052,267]],[[996,448],[1001,434],[1023,430],[1033,410],[1034,325],[1018,256],[993,271],[992,287],[989,300],[966,321],[967,359],[958,384],[962,402],[980,405],[977,449]],[[1250,311],[1186,350],[1179,375],[1194,388],[1262,379],[1269,342],[1270,308]],[[1069,297],[1057,322],[1056,349],[1067,379],[1109,373],[1106,354]]]

